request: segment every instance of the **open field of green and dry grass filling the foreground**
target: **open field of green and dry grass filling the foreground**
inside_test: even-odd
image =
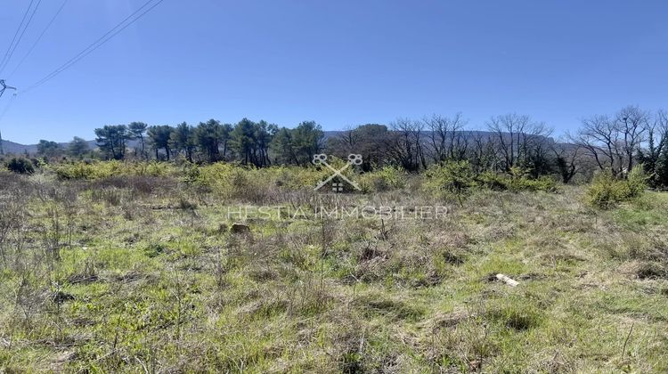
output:
[[[0,178],[0,371],[668,371],[666,193],[597,210],[573,186],[460,206],[418,177],[225,196]],[[308,216],[229,216],[262,205]],[[447,215],[310,215],[434,205]]]

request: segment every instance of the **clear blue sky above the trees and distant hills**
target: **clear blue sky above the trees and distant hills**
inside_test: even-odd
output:
[[[43,0],[8,67],[32,85],[145,0]],[[5,1],[0,56],[28,0]],[[461,111],[469,126],[515,111],[556,134],[628,104],[668,108],[665,1],[165,0],[4,118],[15,142],[144,121],[248,117],[327,130]],[[0,111],[11,94],[0,99]]]

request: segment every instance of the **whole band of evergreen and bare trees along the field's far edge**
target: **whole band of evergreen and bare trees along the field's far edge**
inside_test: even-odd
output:
[[[576,175],[607,170],[623,177],[643,164],[650,183],[668,185],[668,115],[629,106],[613,115],[582,119],[574,134],[560,142],[543,122],[509,113],[490,118],[484,130],[472,130],[457,113],[420,119],[398,118],[389,125],[366,124],[325,138],[314,121],[294,128],[248,118],[236,124],[216,119],[191,126],[148,126],[143,122],[96,128],[97,157],[102,159],[185,159],[190,162],[238,162],[255,167],[308,165],[315,153],[345,159],[363,155],[364,170],[392,165],[418,172],[449,160],[468,160],[476,172],[522,170],[538,177],[557,175],[564,183]],[[128,144],[133,143],[133,147]],[[94,155],[88,143],[75,138],[63,149],[40,141],[45,157],[85,158]]]

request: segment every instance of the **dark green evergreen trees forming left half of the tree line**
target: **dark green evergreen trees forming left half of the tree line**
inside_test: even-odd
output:
[[[236,161],[244,165],[268,167],[274,164],[305,165],[323,148],[322,127],[304,121],[295,128],[279,127],[264,120],[243,118],[231,125],[216,119],[191,126],[148,126],[143,122],[108,125],[94,130],[102,159],[156,159],[189,162]],[[134,142],[134,147],[130,147]],[[74,158],[91,157],[85,141],[76,138],[66,154]],[[87,145],[87,143],[86,143]],[[59,144],[40,141],[38,153],[58,155]]]

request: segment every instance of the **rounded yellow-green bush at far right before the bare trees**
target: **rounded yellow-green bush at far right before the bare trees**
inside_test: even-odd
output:
[[[592,207],[607,209],[642,196],[648,187],[647,182],[648,177],[641,165],[632,169],[625,180],[616,178],[609,172],[599,173],[594,175],[585,199]]]

